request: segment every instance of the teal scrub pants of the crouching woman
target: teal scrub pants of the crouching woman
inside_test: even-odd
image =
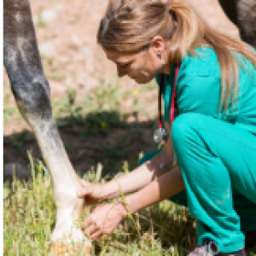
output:
[[[186,189],[170,200],[197,219],[198,244],[211,239],[221,253],[240,250],[243,233],[256,230],[256,135],[236,123],[183,113],[172,125],[172,147]]]

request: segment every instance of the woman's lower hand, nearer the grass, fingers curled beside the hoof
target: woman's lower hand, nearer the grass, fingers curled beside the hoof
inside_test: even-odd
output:
[[[82,224],[84,235],[92,239],[102,239],[116,229],[126,214],[125,205],[121,202],[96,207]]]

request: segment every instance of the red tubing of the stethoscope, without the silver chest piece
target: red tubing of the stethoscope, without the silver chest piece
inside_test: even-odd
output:
[[[175,67],[175,77],[174,77],[174,83],[173,83],[173,92],[172,92],[172,106],[171,106],[171,111],[170,111],[170,121],[171,121],[171,126],[172,122],[174,120],[174,113],[177,110],[177,106],[175,104],[176,102],[176,80],[177,80],[177,73],[179,71],[180,63],[177,63]],[[161,91],[162,91],[162,83],[163,83],[163,77],[164,75],[161,73],[160,74],[160,82],[159,82],[159,95],[158,95],[158,125],[159,128],[163,128],[162,124],[162,113],[161,113]]]

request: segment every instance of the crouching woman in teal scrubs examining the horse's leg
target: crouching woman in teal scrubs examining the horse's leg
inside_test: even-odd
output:
[[[165,146],[133,172],[78,192],[96,204],[128,195],[126,204],[97,207],[84,233],[110,234],[125,218],[170,198],[197,218],[191,255],[244,255],[244,234],[256,230],[256,54],[212,30],[185,3],[110,1],[97,36],[119,77],[139,84],[163,76]],[[178,115],[171,125],[176,63]],[[177,166],[173,166],[173,154]],[[108,218],[106,215],[108,213]],[[205,253],[205,254],[204,254]]]

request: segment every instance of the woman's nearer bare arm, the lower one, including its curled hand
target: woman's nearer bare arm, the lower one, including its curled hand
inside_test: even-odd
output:
[[[131,213],[137,212],[176,195],[183,189],[183,177],[176,166],[172,172],[167,172],[155,178],[154,181],[137,191],[137,193],[128,195],[125,203],[119,201],[96,207],[82,224],[84,234],[90,235],[93,239],[109,235],[116,229],[119,222],[126,217],[128,211]]]

